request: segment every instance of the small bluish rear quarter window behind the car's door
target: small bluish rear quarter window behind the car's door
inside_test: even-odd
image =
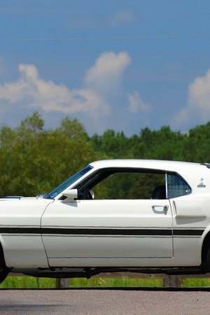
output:
[[[175,198],[191,193],[191,188],[177,174],[167,174],[167,198]]]

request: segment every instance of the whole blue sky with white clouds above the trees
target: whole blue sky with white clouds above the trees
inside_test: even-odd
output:
[[[87,134],[210,120],[209,0],[1,0],[0,127]]]

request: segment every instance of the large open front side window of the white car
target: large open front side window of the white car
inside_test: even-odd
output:
[[[78,199],[88,199],[87,190],[93,190],[95,200],[151,199],[155,197],[153,193],[157,187],[161,187],[163,192],[161,196],[159,193],[158,199],[165,199],[165,172],[106,169],[94,174],[78,187]]]

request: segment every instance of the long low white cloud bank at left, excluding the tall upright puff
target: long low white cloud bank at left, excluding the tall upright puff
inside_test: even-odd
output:
[[[0,85],[0,100],[10,104],[22,102],[46,112],[87,113],[100,109],[103,114],[109,113],[106,101],[92,89],[69,90],[65,85],[42,80],[36,66],[31,64],[20,64],[19,71],[20,79],[15,83]]]

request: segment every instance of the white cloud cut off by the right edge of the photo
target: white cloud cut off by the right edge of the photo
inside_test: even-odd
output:
[[[210,118],[210,69],[205,76],[197,77],[188,87],[188,102],[174,117],[174,124],[182,125],[200,119],[207,123]]]

